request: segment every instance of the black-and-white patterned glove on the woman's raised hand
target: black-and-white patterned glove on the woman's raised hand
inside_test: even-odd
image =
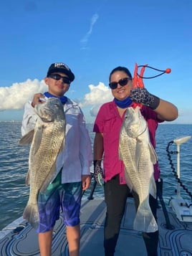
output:
[[[160,99],[152,95],[144,87],[137,87],[130,90],[130,99],[135,103],[142,103],[151,109],[158,108]]]

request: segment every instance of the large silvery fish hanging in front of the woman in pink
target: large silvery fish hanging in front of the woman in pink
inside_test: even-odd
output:
[[[158,157],[150,143],[148,124],[140,113],[139,106],[127,108],[125,112],[120,128],[118,153],[125,166],[127,185],[139,198],[133,229],[155,232],[158,224],[150,209],[149,194],[156,198],[153,164],[158,161]]]

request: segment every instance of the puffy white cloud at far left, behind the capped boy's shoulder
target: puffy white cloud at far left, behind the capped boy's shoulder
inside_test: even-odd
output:
[[[32,99],[35,93],[44,93],[46,90],[44,80],[37,79],[14,82],[10,87],[0,87],[0,110],[23,109],[24,104]]]

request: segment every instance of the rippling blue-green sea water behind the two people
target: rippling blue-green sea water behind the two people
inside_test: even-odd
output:
[[[93,143],[92,124],[87,124]],[[168,143],[175,138],[192,136],[192,125],[160,124],[156,133],[156,151],[163,178],[163,199],[165,204],[175,195],[177,180],[176,144],[169,148],[171,164],[166,151]],[[14,219],[21,217],[29,199],[29,186],[25,186],[28,171],[29,146],[19,146],[21,138],[21,122],[0,122],[0,230]],[[192,192],[192,138],[180,146],[181,181],[188,191]],[[92,181],[92,185],[93,185]],[[88,189],[84,197],[90,196]],[[181,188],[181,195],[191,202],[191,197]],[[93,197],[103,196],[102,186],[96,186]]]

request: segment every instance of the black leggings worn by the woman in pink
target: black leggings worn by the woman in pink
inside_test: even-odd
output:
[[[120,224],[125,212],[125,206],[130,194],[128,186],[120,185],[119,175],[115,176],[104,185],[105,203],[107,205],[107,213],[105,218],[104,229],[104,247],[105,256],[112,256],[115,253],[117,239],[120,232]],[[138,207],[138,196],[134,194],[135,206]],[[157,212],[157,199],[153,196],[149,198],[150,208],[155,219]],[[158,231],[145,233],[143,232],[143,240],[148,252],[148,256],[156,256],[158,248]]]

